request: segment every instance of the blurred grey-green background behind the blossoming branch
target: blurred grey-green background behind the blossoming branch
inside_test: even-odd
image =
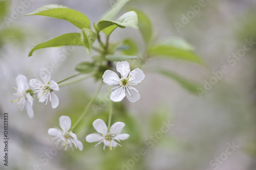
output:
[[[15,0],[10,3],[4,16],[11,20],[2,19],[0,25],[0,109],[2,117],[4,112],[9,113],[9,165],[7,168],[1,160],[0,168],[256,169],[255,0],[205,0],[204,7],[194,13],[195,16],[190,16],[187,22],[184,22],[184,16],[204,1],[131,0],[127,3],[118,16],[129,7],[144,11],[152,21],[155,37],[184,38],[195,47],[196,53],[206,64],[160,58],[147,60],[142,68],[145,80],[136,87],[141,93],[140,100],[136,103],[124,100],[114,105],[112,124],[124,122],[123,133],[130,134],[130,138],[122,141],[122,147],[116,148],[116,151],[103,152],[102,144],[94,148],[96,143],[85,140],[88,134],[94,132],[92,123],[95,119],[108,120],[109,103],[106,99],[109,95],[106,85],[101,88],[89,114],[75,129],[83,143],[83,151],[72,153],[70,150],[57,150],[54,153],[53,141],[47,134],[49,128],[59,127],[61,115],[70,116],[72,123],[76,121],[96,89],[93,78],[57,91],[59,106],[56,109],[37,103],[34,99],[33,119],[28,118],[25,109],[19,112],[11,103],[14,99],[12,87],[16,86],[18,74],[30,80],[39,74],[40,68],[48,68],[52,71],[52,80],[60,81],[74,74],[78,63],[91,61],[84,47],[72,50],[67,47],[45,48],[29,58],[28,54],[36,44],[80,30],[65,20],[25,17],[25,14],[43,5],[59,4],[86,14],[93,23],[100,20],[113,2]],[[1,12],[5,12],[3,9]],[[179,25],[181,27],[177,29],[178,22],[182,26]],[[138,30],[118,28],[110,41],[124,38],[133,38],[143,53],[145,47]],[[248,41],[252,41],[250,50],[242,57],[230,57],[241,52]],[[51,65],[53,61],[57,62],[57,66]],[[223,66],[228,71],[220,79],[213,78],[216,77],[214,72],[222,70]],[[151,68],[154,67],[177,72],[186,79],[198,82],[202,89],[207,86],[206,82],[214,79],[217,82],[200,95],[190,93],[176,81],[152,72]],[[172,126],[167,133],[162,133],[162,127],[168,122]],[[2,144],[1,140],[3,156]],[[139,155],[141,150],[144,150],[143,155]]]

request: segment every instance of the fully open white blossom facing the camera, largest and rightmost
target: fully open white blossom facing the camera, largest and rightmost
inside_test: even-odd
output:
[[[104,83],[108,85],[118,85],[112,88],[117,89],[111,93],[110,99],[113,102],[120,102],[126,95],[126,98],[130,102],[138,101],[140,99],[139,91],[131,85],[137,85],[144,80],[145,75],[143,71],[139,68],[135,68],[131,71],[130,65],[126,61],[118,62],[116,69],[120,72],[121,78],[111,70],[106,70],[102,76]]]

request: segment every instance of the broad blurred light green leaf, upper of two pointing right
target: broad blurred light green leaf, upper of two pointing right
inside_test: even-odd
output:
[[[202,59],[193,51],[184,50],[183,47],[177,47],[177,45],[162,43],[152,46],[148,50],[148,54],[152,57],[164,57],[170,59],[185,60],[202,64]]]

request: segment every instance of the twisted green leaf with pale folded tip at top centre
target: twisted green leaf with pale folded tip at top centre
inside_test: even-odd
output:
[[[138,29],[138,16],[135,11],[126,12],[116,21],[100,20],[97,23],[98,31],[103,31],[106,35],[110,35],[117,27],[132,27]]]

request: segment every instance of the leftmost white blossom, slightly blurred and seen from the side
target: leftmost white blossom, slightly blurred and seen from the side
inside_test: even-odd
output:
[[[22,111],[26,106],[26,110],[29,118],[33,118],[34,117],[34,111],[32,108],[33,98],[30,95],[30,93],[32,94],[32,90],[29,89],[27,78],[24,75],[18,75],[16,77],[16,83],[17,83],[17,88],[13,87],[16,90],[16,92],[13,93],[13,95],[17,99],[13,100],[12,103],[15,102],[16,106],[18,106],[20,111]]]

